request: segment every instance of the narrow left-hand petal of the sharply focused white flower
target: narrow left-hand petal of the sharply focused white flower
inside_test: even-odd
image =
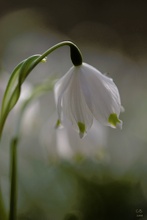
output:
[[[57,106],[59,120],[61,120],[62,113],[62,97],[68,87],[73,71],[74,67],[71,67],[70,70],[60,80],[58,80],[54,87],[55,102]]]

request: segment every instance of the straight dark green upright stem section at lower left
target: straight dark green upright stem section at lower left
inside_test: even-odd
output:
[[[11,188],[10,188],[10,210],[9,220],[16,220],[17,213],[17,144],[18,138],[13,138],[11,141]]]

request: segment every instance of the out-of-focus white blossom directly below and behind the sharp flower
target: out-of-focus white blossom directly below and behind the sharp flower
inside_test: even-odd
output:
[[[65,119],[65,126],[62,129],[53,129],[55,119],[56,114],[51,115],[40,133],[40,143],[44,148],[45,158],[68,160],[81,156],[107,160],[108,154],[105,154],[108,138],[106,127],[94,119],[88,135],[81,140],[67,119]]]

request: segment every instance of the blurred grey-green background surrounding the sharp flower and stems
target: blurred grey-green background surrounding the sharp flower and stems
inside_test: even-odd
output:
[[[53,91],[25,111],[18,149],[18,219],[147,219],[147,14],[145,1],[4,1],[0,8],[0,100],[13,68],[63,41],[110,75],[125,112],[123,129],[94,122],[84,139],[55,130]],[[9,209],[9,144],[35,85],[62,77],[69,48],[52,53],[27,78],[0,146],[0,184]],[[138,211],[140,211],[138,213]]]

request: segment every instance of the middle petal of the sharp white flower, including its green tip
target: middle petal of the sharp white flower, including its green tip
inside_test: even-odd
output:
[[[93,116],[86,104],[83,92],[80,88],[79,70],[79,67],[75,68],[70,84],[64,92],[63,110],[72,122],[75,130],[80,130],[80,136],[82,137],[85,133],[84,130],[86,129],[87,131],[91,127]]]

